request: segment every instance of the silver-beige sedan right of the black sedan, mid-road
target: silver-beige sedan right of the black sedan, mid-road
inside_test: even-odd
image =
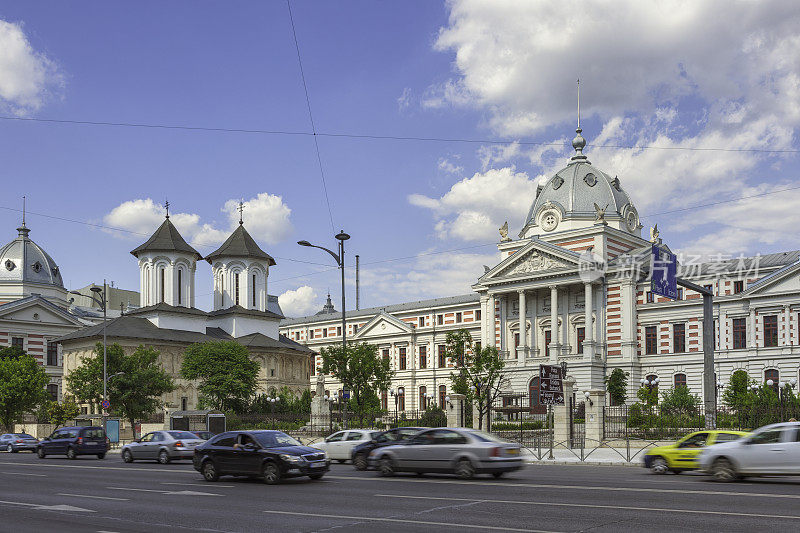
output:
[[[436,428],[402,444],[372,450],[370,466],[383,476],[395,472],[444,472],[470,479],[475,474],[500,477],[522,468],[519,444],[468,428]]]

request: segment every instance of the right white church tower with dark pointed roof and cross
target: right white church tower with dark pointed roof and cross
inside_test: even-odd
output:
[[[234,306],[267,310],[267,277],[275,260],[244,229],[243,208],[239,204],[239,227],[206,256],[214,276],[214,311]]]

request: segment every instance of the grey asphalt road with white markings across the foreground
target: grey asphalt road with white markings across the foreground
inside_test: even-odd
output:
[[[207,483],[189,462],[0,454],[0,531],[800,530],[800,478],[718,484],[610,466],[529,466],[495,480],[382,478]]]

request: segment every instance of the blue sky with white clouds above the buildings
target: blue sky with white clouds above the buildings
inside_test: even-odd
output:
[[[291,0],[297,47],[287,2],[234,6],[0,3],[0,241],[24,195],[68,288],[138,289],[165,201],[205,254],[243,200],[287,316],[339,307],[296,241],[341,229],[348,309],[355,254],[362,307],[464,294],[565,166],[580,78],[585,153],[673,250],[800,248],[799,3]]]

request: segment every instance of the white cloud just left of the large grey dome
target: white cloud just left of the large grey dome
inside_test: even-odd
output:
[[[535,196],[535,179],[505,167],[464,178],[441,198],[412,194],[408,201],[433,212],[441,238],[486,241],[498,239],[497,228],[504,221],[524,222]]]

